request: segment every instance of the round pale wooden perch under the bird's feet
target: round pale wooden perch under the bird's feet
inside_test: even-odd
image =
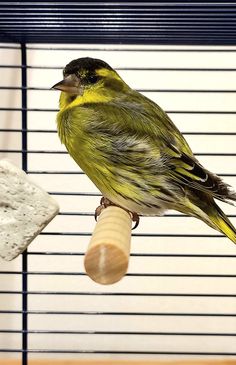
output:
[[[109,206],[101,212],[85,255],[88,276],[99,284],[113,284],[127,272],[132,219],[128,212]]]

